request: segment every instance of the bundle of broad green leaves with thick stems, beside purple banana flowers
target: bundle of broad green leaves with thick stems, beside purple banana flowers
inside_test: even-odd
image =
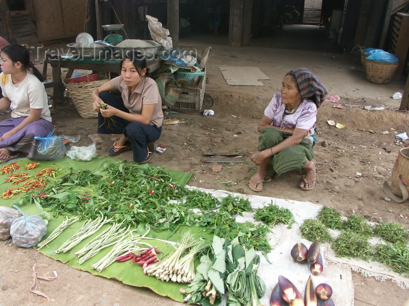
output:
[[[253,247],[244,248],[238,237],[232,243],[213,237],[211,252],[203,255],[193,282],[181,293],[185,301],[213,305],[228,293],[227,305],[260,306],[265,284],[257,275],[260,257]]]

